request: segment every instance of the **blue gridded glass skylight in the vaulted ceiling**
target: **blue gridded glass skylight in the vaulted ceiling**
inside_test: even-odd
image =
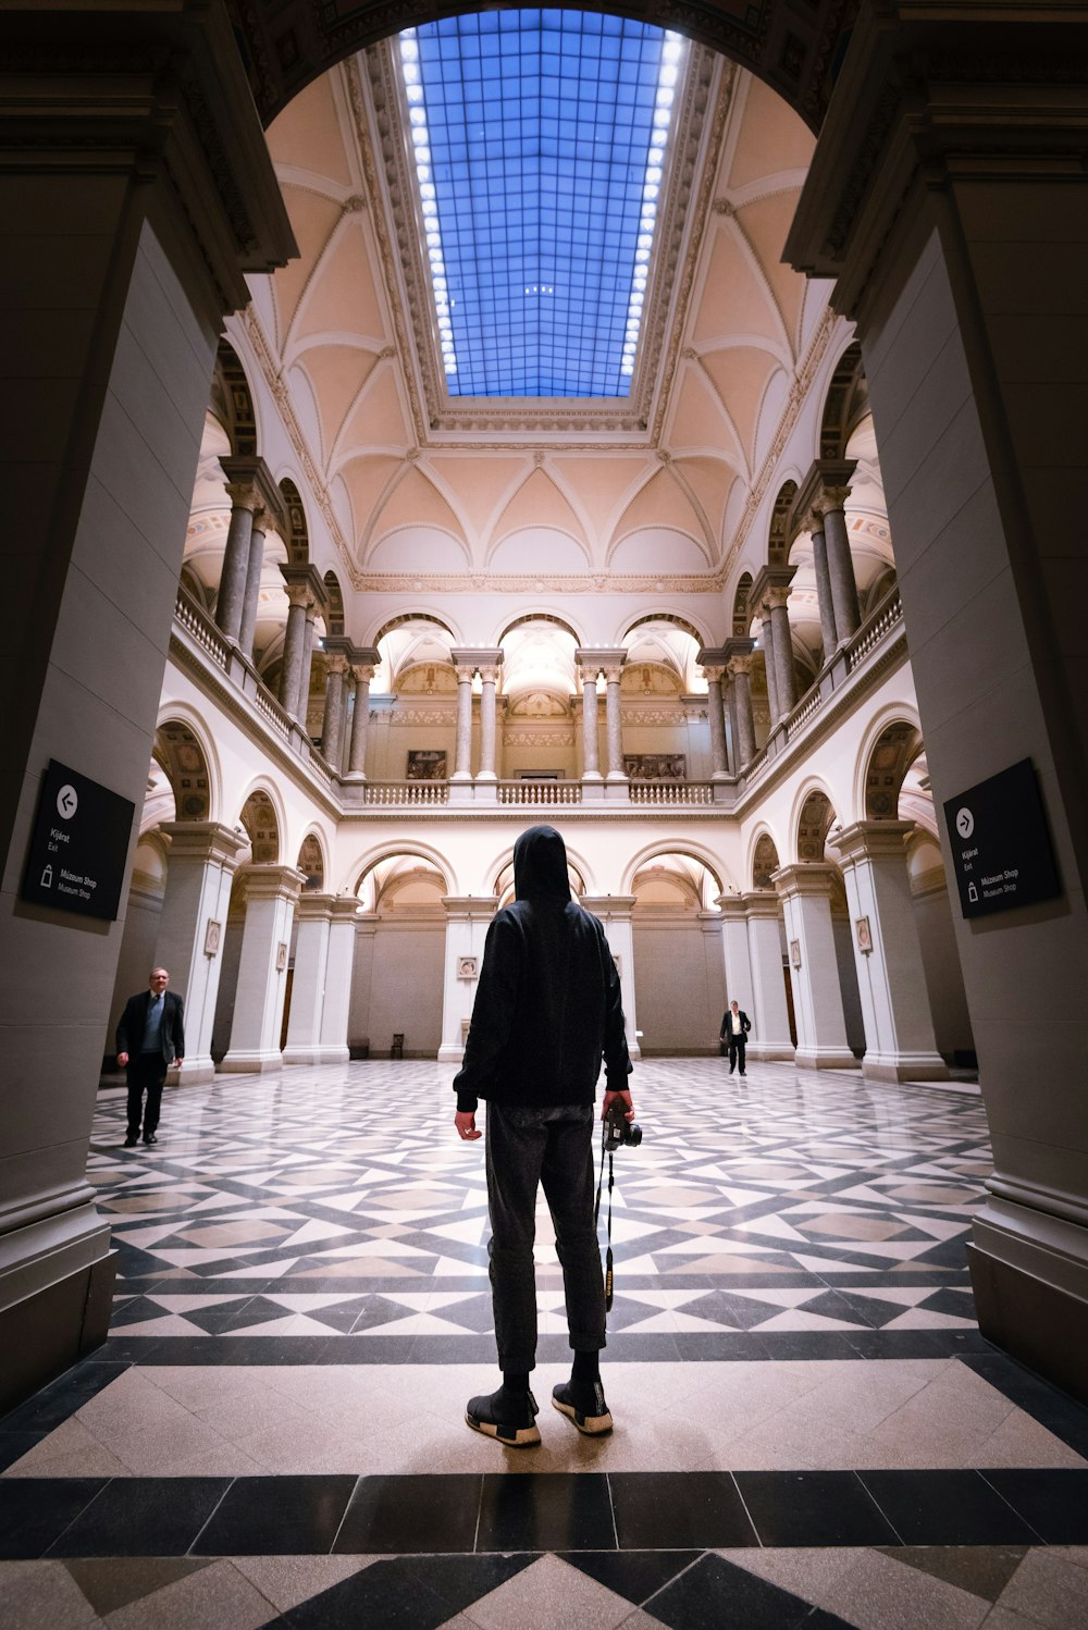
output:
[[[399,36],[451,396],[627,396],[684,44],[590,11]]]

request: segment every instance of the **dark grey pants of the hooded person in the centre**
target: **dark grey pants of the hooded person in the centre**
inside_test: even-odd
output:
[[[593,1222],[591,1104],[549,1108],[487,1105],[487,1201],[495,1341],[500,1369],[536,1366],[536,1190],[555,1226],[567,1330],[575,1353],[604,1346],[604,1280]]]

